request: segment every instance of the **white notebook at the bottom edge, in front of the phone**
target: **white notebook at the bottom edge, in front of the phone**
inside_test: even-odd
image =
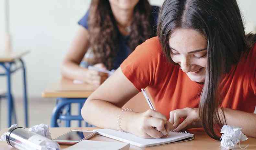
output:
[[[82,140],[63,150],[128,150],[129,143]]]

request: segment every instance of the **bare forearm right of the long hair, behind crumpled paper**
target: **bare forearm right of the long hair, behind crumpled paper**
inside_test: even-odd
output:
[[[245,135],[256,138],[256,114],[229,108],[223,108],[223,110],[227,125],[240,127]]]

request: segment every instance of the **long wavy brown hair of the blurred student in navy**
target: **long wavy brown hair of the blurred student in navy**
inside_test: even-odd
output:
[[[148,0],[140,0],[134,8],[128,46],[133,51],[146,39],[153,36],[151,5]],[[113,58],[119,51],[118,27],[108,0],[92,0],[89,8],[90,45],[97,57],[96,63],[112,68]],[[154,35],[155,36],[155,35]]]

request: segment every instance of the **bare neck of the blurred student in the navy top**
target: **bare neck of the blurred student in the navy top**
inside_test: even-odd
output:
[[[113,12],[113,15],[115,17],[115,20],[117,21],[117,24],[126,27],[131,25],[132,19],[133,19],[133,11],[134,9],[119,9],[115,6],[111,5],[111,9]]]

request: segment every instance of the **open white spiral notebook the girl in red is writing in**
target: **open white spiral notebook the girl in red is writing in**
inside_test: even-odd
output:
[[[170,131],[168,137],[145,139],[137,137],[131,133],[123,133],[111,129],[96,129],[94,131],[96,131],[99,135],[106,136],[125,143],[130,143],[131,145],[135,145],[138,147],[148,147],[168,143],[183,142],[194,139],[194,135],[188,132]]]

